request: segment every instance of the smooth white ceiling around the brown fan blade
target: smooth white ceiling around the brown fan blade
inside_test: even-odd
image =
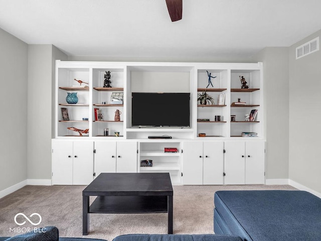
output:
[[[0,28],[69,56],[248,58],[321,29],[320,0],[0,0]]]

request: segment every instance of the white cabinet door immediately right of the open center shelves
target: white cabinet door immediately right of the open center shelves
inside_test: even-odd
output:
[[[183,184],[203,184],[203,142],[183,143]]]

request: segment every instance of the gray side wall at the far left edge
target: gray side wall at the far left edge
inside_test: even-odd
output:
[[[27,179],[28,45],[0,29],[0,191]]]

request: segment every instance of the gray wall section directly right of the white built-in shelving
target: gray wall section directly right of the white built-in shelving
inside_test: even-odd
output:
[[[266,179],[288,179],[288,48],[264,48],[253,56],[253,61],[263,62]]]

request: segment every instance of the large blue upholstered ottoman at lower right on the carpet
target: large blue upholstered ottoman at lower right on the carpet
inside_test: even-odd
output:
[[[217,191],[214,203],[218,233],[253,241],[321,238],[321,199],[305,191]]]

